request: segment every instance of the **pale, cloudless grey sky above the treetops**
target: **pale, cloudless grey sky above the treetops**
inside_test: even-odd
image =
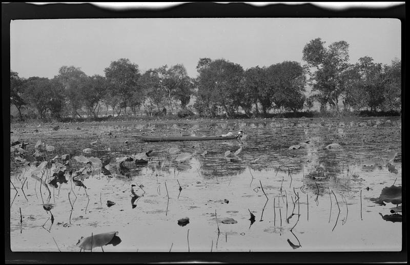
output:
[[[125,18],[16,20],[10,24],[11,70],[53,78],[61,66],[104,75],[128,58],[141,72],[183,64],[196,77],[199,58],[242,65],[302,62],[306,43],[344,40],[352,63],[365,55],[390,64],[401,58],[401,22],[389,18]]]

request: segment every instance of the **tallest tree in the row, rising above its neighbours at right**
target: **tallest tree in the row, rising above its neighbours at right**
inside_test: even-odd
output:
[[[332,43],[325,48],[320,38],[314,39],[303,48],[302,59],[311,68],[316,68],[312,74],[312,90],[318,91],[321,102],[332,105],[339,111],[339,97],[344,92],[343,71],[348,68],[348,44],[345,41]]]

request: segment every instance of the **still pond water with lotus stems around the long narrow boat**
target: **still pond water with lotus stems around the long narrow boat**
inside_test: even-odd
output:
[[[59,125],[58,130],[52,127]],[[112,157],[112,176],[96,169],[74,183],[49,186],[30,177],[34,166],[14,168],[10,184],[13,251],[79,251],[81,236],[118,231],[121,243],[104,251],[400,251],[401,222],[393,205],[370,201],[383,187],[401,185],[401,121],[396,118],[198,120],[12,125],[13,136],[71,149],[86,157]],[[218,135],[244,129],[243,141],[144,143],[132,135]],[[96,145],[91,142],[99,139]],[[126,142],[128,141],[128,142]],[[306,143],[307,142],[307,143]],[[337,143],[339,148],[324,148]],[[292,145],[299,149],[289,150]],[[179,152],[170,154],[172,147]],[[238,155],[234,155],[239,148]],[[115,158],[153,150],[147,165]],[[226,152],[231,154],[225,157]],[[398,155],[386,166],[388,153]],[[31,151],[30,151],[31,152]],[[34,150],[33,150],[34,153]],[[192,157],[175,162],[178,154]],[[206,154],[204,154],[206,153]],[[365,166],[367,160],[377,162]],[[80,165],[76,165],[80,166]],[[48,174],[48,173],[47,173]],[[46,174],[46,175],[47,175]],[[24,184],[24,197],[22,184]],[[131,185],[137,185],[134,199]],[[143,185],[142,188],[138,186]],[[179,191],[179,185],[182,190]],[[71,187],[73,192],[70,193]],[[76,196],[76,197],[75,197]],[[107,206],[107,201],[115,202]],[[43,202],[53,204],[51,214]],[[73,205],[73,206],[71,206]],[[20,212],[22,211],[22,223]],[[215,217],[216,212],[216,217]],[[255,216],[251,223],[250,217]],[[189,217],[185,226],[178,219]],[[232,218],[236,223],[223,223]],[[219,233],[218,233],[219,230]],[[54,242],[55,240],[55,242]],[[58,245],[58,248],[57,248]],[[95,252],[101,248],[93,249]]]

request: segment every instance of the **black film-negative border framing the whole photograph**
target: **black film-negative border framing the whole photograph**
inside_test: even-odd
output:
[[[363,3],[363,2],[361,2]],[[394,2],[389,2],[394,3]],[[402,2],[401,2],[402,3]],[[366,4],[364,2],[364,4]],[[405,4],[389,8],[326,9],[312,4],[271,4],[253,6],[244,3],[186,3],[169,8],[108,9],[92,4],[2,3],[2,102],[5,196],[5,261],[7,263],[145,263],[145,262],[238,262],[238,263],[340,263],[340,262],[406,262],[407,230],[406,209],[403,210],[403,243],[401,252],[259,252],[259,253],[44,253],[11,252],[10,250],[10,189],[6,176],[10,174],[8,147],[10,144],[10,21],[42,18],[177,18],[177,17],[369,17],[398,18],[402,25],[402,87],[405,87]],[[402,89],[402,111],[404,110]],[[403,113],[403,112],[402,112]],[[402,116],[403,117],[403,116]],[[403,118],[402,118],[403,122]],[[404,129],[405,127],[403,127]],[[402,131],[403,135],[403,131]],[[404,138],[402,150],[404,152]],[[404,154],[402,154],[402,161]],[[405,200],[405,163],[402,169],[403,197]],[[377,233],[377,231],[375,231]]]

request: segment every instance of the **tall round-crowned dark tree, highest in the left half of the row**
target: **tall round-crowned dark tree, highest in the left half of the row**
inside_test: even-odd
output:
[[[110,66],[104,70],[107,81],[111,83],[114,93],[121,99],[121,105],[127,114],[129,99],[135,90],[138,90],[138,79],[140,73],[138,65],[130,62],[129,59],[119,59],[111,62]]]

